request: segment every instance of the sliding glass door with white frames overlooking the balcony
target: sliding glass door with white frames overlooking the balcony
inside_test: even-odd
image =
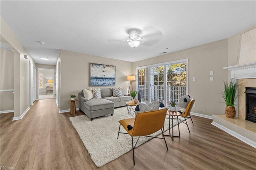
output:
[[[137,68],[137,88],[142,101],[154,100],[169,106],[187,92],[187,59]]]

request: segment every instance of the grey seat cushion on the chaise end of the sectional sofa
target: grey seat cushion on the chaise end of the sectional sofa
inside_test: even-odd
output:
[[[84,107],[89,111],[97,111],[114,107],[114,102],[106,99],[93,99],[84,102]]]

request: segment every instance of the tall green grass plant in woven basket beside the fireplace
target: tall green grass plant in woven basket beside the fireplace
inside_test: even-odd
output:
[[[235,118],[236,115],[236,108],[234,107],[235,101],[236,101],[236,90],[238,87],[238,83],[235,82],[234,79],[231,79],[230,82],[224,81],[224,91],[222,91],[220,94],[225,100],[226,103],[226,117],[228,118]]]

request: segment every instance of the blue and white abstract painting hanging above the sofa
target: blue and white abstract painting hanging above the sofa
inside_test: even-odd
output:
[[[90,86],[115,86],[116,66],[90,63]]]

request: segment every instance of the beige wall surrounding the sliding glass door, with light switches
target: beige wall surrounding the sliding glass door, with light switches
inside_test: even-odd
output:
[[[228,71],[222,69],[228,65],[228,39],[212,42],[182,51],[168,53],[133,63],[136,67],[164,63],[188,58],[188,94],[195,98],[196,107],[192,112],[204,115],[223,115],[225,104],[219,92],[223,89],[223,80],[228,79]],[[209,80],[209,72],[214,71],[214,81]],[[196,77],[196,81],[192,81]]]

